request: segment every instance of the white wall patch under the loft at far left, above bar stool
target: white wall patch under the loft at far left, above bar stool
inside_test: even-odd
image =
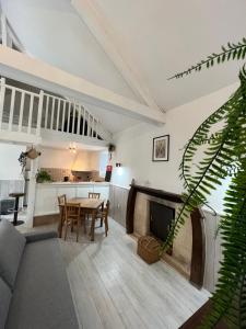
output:
[[[0,143],[0,180],[23,180],[17,159],[25,150],[25,146]]]

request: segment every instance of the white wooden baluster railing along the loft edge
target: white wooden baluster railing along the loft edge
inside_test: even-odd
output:
[[[50,135],[52,133],[52,135]],[[46,136],[105,144],[110,133],[81,102],[0,80],[0,139],[42,144]]]

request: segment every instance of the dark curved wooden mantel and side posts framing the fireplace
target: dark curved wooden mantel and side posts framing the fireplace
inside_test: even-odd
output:
[[[148,186],[141,186],[137,184],[130,185],[127,202],[127,218],[126,218],[126,230],[127,234],[133,234],[133,218],[134,218],[134,206],[138,193],[144,193],[151,196],[155,196],[162,200],[171,201],[177,204],[181,204],[181,195],[169,193],[162,190],[155,190]],[[191,266],[190,266],[190,283],[201,288],[203,285],[204,276],[204,250],[206,239],[203,231],[203,217],[198,208],[191,214],[191,226],[192,226],[192,254],[191,254]]]

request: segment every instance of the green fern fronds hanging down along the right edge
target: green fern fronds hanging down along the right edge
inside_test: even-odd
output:
[[[192,71],[210,68],[215,63],[244,59],[246,38],[227,44],[220,54],[171,77],[181,78]],[[246,328],[246,69],[239,72],[239,88],[219,110],[211,114],[185,146],[180,163],[180,178],[186,193],[163,251],[168,250],[178,229],[195,207],[207,204],[208,196],[229,174],[231,184],[224,196],[224,216],[220,231],[223,261],[213,293],[212,310],[201,328],[215,328],[223,319],[229,328]],[[203,157],[197,161],[196,155]],[[197,163],[196,163],[197,162]],[[194,164],[196,163],[196,166]]]

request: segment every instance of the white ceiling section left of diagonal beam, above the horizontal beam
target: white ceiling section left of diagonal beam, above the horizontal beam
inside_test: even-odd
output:
[[[28,54],[137,100],[69,0],[2,0],[2,3]]]

